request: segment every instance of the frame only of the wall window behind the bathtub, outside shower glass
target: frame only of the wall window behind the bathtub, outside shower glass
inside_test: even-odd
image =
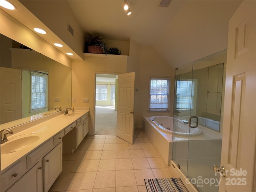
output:
[[[162,108],[162,109],[153,109],[150,107],[151,105],[151,97],[153,94],[151,94],[151,81],[152,80],[167,80],[168,81],[168,94],[166,94],[167,97],[167,103],[166,106],[167,108]],[[169,77],[151,77],[149,80],[149,89],[148,89],[148,112],[170,112],[170,83],[171,83],[171,78]]]

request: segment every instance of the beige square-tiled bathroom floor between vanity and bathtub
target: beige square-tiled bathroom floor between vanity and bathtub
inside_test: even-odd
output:
[[[73,154],[63,154],[63,170],[49,192],[146,192],[145,178],[177,177],[142,130],[134,144],[116,135],[86,136]]]

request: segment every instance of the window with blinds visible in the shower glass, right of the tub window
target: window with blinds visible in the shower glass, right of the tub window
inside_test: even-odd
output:
[[[176,110],[190,110],[194,108],[195,84],[194,80],[177,80]]]

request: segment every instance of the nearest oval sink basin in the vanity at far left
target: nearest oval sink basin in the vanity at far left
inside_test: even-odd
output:
[[[22,150],[38,142],[42,136],[43,134],[26,134],[13,137],[8,142],[1,144],[1,154],[8,154]]]

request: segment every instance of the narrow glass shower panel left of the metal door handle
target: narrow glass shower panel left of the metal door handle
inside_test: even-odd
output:
[[[175,74],[175,92],[174,92],[174,116],[173,116],[173,152],[172,160],[187,176],[188,169],[188,141],[189,141],[189,124],[186,117],[191,116],[191,108],[193,108],[192,99],[192,75],[193,63],[187,64],[180,68],[176,68]],[[180,133],[187,131],[184,137]]]

